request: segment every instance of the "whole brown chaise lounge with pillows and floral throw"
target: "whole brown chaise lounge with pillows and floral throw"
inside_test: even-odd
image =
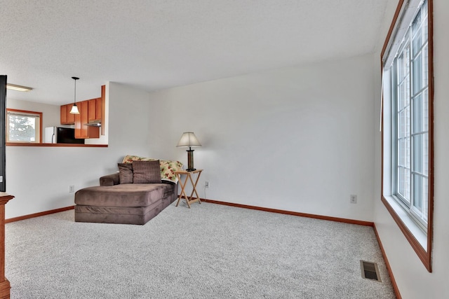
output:
[[[177,179],[166,170],[166,161],[119,163],[119,172],[100,177],[100,186],[76,191],[75,221],[144,225],[177,199]]]

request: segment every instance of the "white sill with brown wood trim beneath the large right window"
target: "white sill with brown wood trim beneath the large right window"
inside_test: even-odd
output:
[[[429,238],[420,229],[420,227],[413,221],[410,215],[403,210],[400,204],[391,196],[382,196],[382,202],[396,221],[398,227],[401,229],[406,239],[413,247],[417,256],[420,258],[424,266],[431,272],[431,253],[428,252]]]

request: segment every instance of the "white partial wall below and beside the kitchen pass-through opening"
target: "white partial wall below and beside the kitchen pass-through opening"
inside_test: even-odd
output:
[[[149,155],[148,93],[109,83],[107,97],[107,148],[6,147],[6,191],[15,196],[6,205],[6,218],[73,205],[69,185],[75,190],[98,185],[100,176],[116,172],[124,155]]]

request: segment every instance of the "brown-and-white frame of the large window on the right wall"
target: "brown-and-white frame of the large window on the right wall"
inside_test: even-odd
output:
[[[389,28],[389,32],[387,34],[387,38],[385,39],[384,42],[384,46],[382,48],[382,53],[381,53],[381,67],[382,67],[382,73],[381,76],[383,76],[383,71],[384,71],[384,57],[387,54],[387,48],[389,46],[391,46],[391,41],[395,38],[393,35],[396,34],[397,30],[398,30],[398,23],[400,22],[401,16],[405,13],[406,11],[406,3],[408,1],[404,1],[404,0],[400,0],[398,3],[398,6],[396,8],[396,12],[394,14],[394,18],[393,21],[391,22],[390,28]],[[421,4],[421,2],[420,2]],[[403,204],[403,202],[401,202],[401,200],[397,200],[395,199],[394,195],[389,195],[389,193],[391,193],[391,191],[396,188],[394,186],[392,186],[392,183],[390,180],[393,179],[393,176],[396,175],[394,172],[391,172],[392,166],[393,165],[393,161],[394,159],[396,159],[394,157],[394,155],[391,152],[391,148],[394,147],[395,142],[392,142],[392,140],[394,138],[396,138],[396,136],[393,136],[393,132],[390,132],[391,136],[386,137],[386,132],[385,132],[385,128],[389,128],[391,127],[391,124],[385,124],[386,121],[388,122],[392,122],[393,121],[393,116],[392,114],[394,113],[394,111],[396,111],[396,109],[392,109],[392,107],[387,106],[387,105],[383,105],[382,106],[382,183],[381,183],[381,200],[384,203],[385,207],[387,208],[387,210],[389,211],[389,213],[391,214],[392,218],[394,218],[394,221],[396,221],[396,224],[398,225],[398,228],[401,229],[401,231],[403,232],[403,234],[405,235],[406,239],[408,240],[408,242],[410,243],[410,245],[412,246],[412,248],[415,250],[415,253],[417,253],[417,256],[420,258],[420,260],[422,261],[422,263],[424,264],[424,266],[427,268],[427,270],[429,272],[432,271],[432,267],[431,267],[431,251],[432,251],[432,240],[433,240],[433,214],[434,214],[434,36],[433,36],[433,11],[434,11],[434,5],[433,5],[433,0],[427,0],[427,30],[428,30],[428,71],[429,71],[429,82],[428,82],[428,99],[429,99],[429,124],[428,124],[428,210],[427,210],[427,227],[423,226],[422,222],[420,221],[419,223],[413,222],[415,221],[415,218],[413,216],[413,213],[408,214],[408,215],[404,215],[403,211],[401,211],[401,209],[403,209],[403,206],[405,204]],[[417,11],[417,9],[415,9],[415,11]],[[413,24],[413,20],[415,17],[412,18],[410,25]],[[407,29],[408,32],[408,29]],[[410,33],[406,33],[404,34],[404,36],[406,36],[407,34],[410,35]],[[409,36],[409,39],[411,40],[411,36]],[[411,55],[411,53],[410,53]],[[391,74],[390,74],[391,75]],[[383,78],[382,78],[383,80]],[[413,96],[410,95],[410,99]],[[382,90],[382,99],[384,99],[384,94],[383,94],[383,90]],[[396,99],[391,100],[391,102],[396,102]],[[410,103],[411,105],[412,103]],[[388,113],[386,111],[384,111],[384,109],[390,109],[390,111],[388,111]],[[385,116],[387,116],[387,118],[389,117],[389,119],[385,118]],[[411,128],[410,128],[411,130]],[[412,135],[412,132],[410,132],[410,136]],[[389,138],[391,139],[391,141],[386,141],[385,139]],[[397,139],[396,139],[397,140]],[[396,142],[397,143],[397,142]],[[387,146],[386,146],[387,144]],[[410,145],[411,146],[411,145]],[[411,150],[411,149],[410,149]],[[388,167],[390,169],[388,169]],[[387,174],[387,172],[390,172],[390,174]],[[391,176],[391,177],[389,177]],[[410,180],[413,180],[410,177]],[[391,184],[391,185],[389,185]],[[386,191],[385,186],[389,185],[389,191]],[[387,187],[388,188],[388,187]],[[413,203],[410,203],[413,204]],[[402,205],[402,207],[401,207]],[[410,221],[410,219],[412,219],[413,221]],[[420,225],[421,224],[421,225]],[[420,232],[417,231],[416,228],[419,228],[420,230],[422,230],[423,228],[425,228],[425,231],[427,233],[427,235],[420,235]],[[425,238],[425,242],[422,242],[422,239]],[[425,244],[425,246],[423,246],[423,243]],[[424,248],[425,247],[425,248]]]

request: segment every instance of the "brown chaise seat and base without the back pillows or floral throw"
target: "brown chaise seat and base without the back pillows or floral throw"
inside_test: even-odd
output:
[[[100,178],[100,186],[75,193],[75,221],[147,223],[177,199],[177,183],[120,183],[119,173]]]

